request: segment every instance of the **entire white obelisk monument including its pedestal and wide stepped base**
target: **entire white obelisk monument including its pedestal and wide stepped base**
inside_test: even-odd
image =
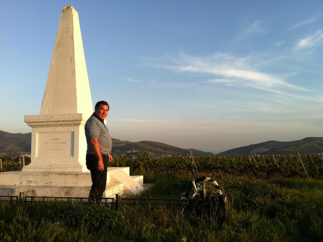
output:
[[[78,13],[63,8],[39,115],[25,116],[32,127],[31,162],[22,171],[0,172],[0,196],[87,197],[84,125],[93,113]],[[143,176],[129,167],[109,167],[103,197],[139,193]]]

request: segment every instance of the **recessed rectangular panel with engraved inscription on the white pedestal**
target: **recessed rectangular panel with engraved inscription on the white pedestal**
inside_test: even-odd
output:
[[[73,157],[74,132],[37,132],[36,157]]]

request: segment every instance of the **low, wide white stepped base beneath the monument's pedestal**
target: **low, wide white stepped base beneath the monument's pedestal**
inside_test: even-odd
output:
[[[91,174],[87,172],[22,172],[0,173],[0,196],[88,197]],[[109,167],[103,197],[115,194],[137,194],[144,190],[143,176],[130,176],[129,167]]]

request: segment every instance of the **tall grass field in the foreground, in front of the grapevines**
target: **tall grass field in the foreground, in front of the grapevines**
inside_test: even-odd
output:
[[[179,207],[77,202],[0,204],[0,241],[323,241],[323,182],[303,178],[214,178],[228,218],[181,215]],[[138,197],[181,198],[191,173],[145,173],[155,185]]]

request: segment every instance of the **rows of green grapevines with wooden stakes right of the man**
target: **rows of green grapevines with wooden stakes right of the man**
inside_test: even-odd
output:
[[[199,172],[218,173],[234,176],[252,176],[269,179],[276,176],[311,177],[322,179],[322,155],[285,155],[285,156],[236,156],[236,157],[193,157]],[[303,164],[303,165],[302,165]],[[129,159],[116,152],[111,167],[130,167],[134,174],[189,172],[192,171],[192,158],[158,158],[153,159],[147,152],[139,154],[135,159]],[[194,172],[196,173],[196,172]]]

